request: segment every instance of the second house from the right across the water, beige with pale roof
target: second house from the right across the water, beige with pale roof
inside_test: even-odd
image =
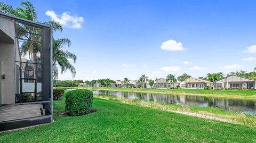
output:
[[[181,83],[181,88],[188,88],[188,89],[204,89],[205,86],[209,86],[210,88],[212,88],[213,82],[190,77]]]

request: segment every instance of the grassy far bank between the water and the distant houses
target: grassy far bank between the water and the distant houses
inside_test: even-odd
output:
[[[69,87],[58,87],[69,88]],[[149,92],[170,95],[198,95],[208,97],[223,97],[236,99],[253,99],[256,100],[256,90],[203,90],[203,89],[150,89],[150,88],[107,88],[107,87],[73,87],[79,89],[99,89],[111,91],[128,91],[128,92]]]

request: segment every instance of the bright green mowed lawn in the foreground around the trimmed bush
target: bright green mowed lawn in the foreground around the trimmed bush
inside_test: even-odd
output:
[[[256,142],[256,129],[94,98],[98,112],[0,134],[0,142]]]

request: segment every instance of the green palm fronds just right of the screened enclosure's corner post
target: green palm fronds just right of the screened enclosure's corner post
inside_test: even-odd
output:
[[[58,66],[61,68],[61,73],[66,72],[67,70],[70,70],[71,74],[73,75],[73,78],[76,75],[76,69],[74,68],[73,65],[70,64],[68,59],[71,59],[76,62],[76,55],[67,51],[63,51],[62,47],[64,45],[68,45],[68,47],[71,45],[71,41],[67,38],[63,39],[53,39],[53,79],[57,80],[58,79]]]

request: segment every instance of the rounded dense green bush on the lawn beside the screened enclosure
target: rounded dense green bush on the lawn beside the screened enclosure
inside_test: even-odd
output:
[[[66,95],[66,111],[71,116],[90,113],[92,102],[93,93],[90,90],[78,89],[68,91]]]

